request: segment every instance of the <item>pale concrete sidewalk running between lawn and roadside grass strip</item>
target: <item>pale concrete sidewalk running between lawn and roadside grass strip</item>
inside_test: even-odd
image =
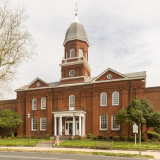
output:
[[[52,148],[52,147],[0,147],[9,149],[21,149],[21,150],[31,150],[31,151],[84,151],[84,152],[106,152],[106,153],[128,153],[128,154],[139,154],[139,151],[130,150],[100,150],[100,149],[86,149],[86,148]],[[160,160],[160,152],[158,151],[142,151],[142,155],[152,155],[154,160]]]

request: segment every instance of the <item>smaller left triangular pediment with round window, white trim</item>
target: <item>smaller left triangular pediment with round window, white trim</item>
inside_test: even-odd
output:
[[[41,87],[49,87],[49,85],[48,83],[41,80],[40,78],[36,78],[27,86],[28,89],[29,88],[41,88]]]

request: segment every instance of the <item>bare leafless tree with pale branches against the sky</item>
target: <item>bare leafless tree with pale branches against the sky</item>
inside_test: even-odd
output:
[[[13,8],[8,0],[0,0],[0,96],[9,91],[18,66],[35,54],[26,20],[24,8]]]

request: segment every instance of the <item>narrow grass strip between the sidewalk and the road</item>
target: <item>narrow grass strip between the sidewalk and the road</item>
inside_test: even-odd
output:
[[[88,155],[99,155],[99,156],[116,156],[116,157],[143,157],[143,158],[154,158],[150,155],[139,155],[139,154],[124,154],[124,153],[104,153],[104,152],[83,152],[83,151],[53,151],[53,150],[22,150],[22,149],[7,149],[0,148],[0,151],[19,151],[19,152],[49,152],[49,153],[68,153],[68,154],[88,154]]]

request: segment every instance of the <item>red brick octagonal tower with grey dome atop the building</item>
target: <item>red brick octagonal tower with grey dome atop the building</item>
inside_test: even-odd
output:
[[[66,32],[63,45],[60,85],[84,82],[91,76],[88,63],[89,42],[83,25],[78,21],[77,13]]]

